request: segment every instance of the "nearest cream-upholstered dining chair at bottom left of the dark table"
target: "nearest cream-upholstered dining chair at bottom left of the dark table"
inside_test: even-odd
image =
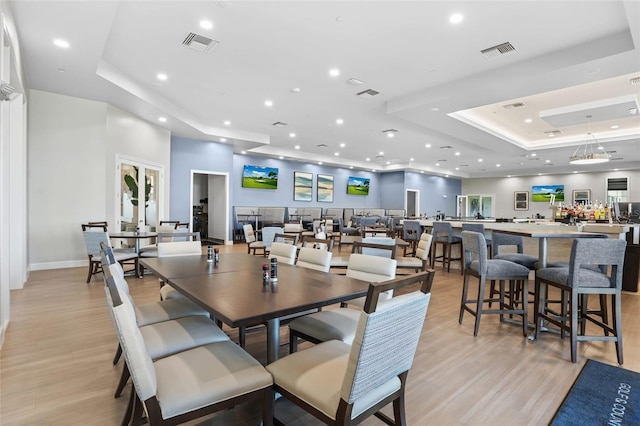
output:
[[[105,292],[132,378],[123,424],[142,424],[143,412],[152,426],[179,424],[253,399],[262,401],[264,424],[272,424],[272,379],[258,361],[228,340],[154,361],[132,303],[120,297],[112,280]]]

